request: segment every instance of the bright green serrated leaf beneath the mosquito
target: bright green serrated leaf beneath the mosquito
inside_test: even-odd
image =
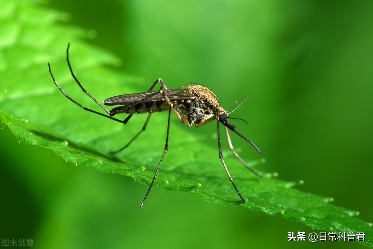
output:
[[[110,151],[126,144],[141,129],[146,115],[134,116],[123,126],[82,110],[53,84],[47,62],[67,94],[98,111],[100,107],[81,92],[69,73],[65,59],[68,42],[76,76],[98,100],[146,91],[150,84],[105,67],[116,65],[119,60],[82,42],[81,38],[87,37],[85,31],[56,23],[63,20],[62,13],[31,8],[28,4],[21,6],[8,1],[0,10],[1,120],[20,141],[52,149],[74,164],[123,174],[149,185],[163,152],[167,113],[154,114],[147,130],[131,146],[111,155]],[[332,198],[293,188],[301,182],[277,180],[275,174],[263,171],[263,179],[259,179],[224,147],[223,155],[231,175],[247,199],[246,204],[242,204],[219,160],[216,136],[213,136],[215,125],[211,122],[209,126],[213,129],[201,127],[200,130],[207,132],[193,134],[193,128],[187,129],[173,117],[169,151],[154,185],[172,191],[190,191],[210,202],[282,215],[314,229],[364,232],[365,241],[361,243],[373,245],[372,224],[356,218],[358,212],[333,206]],[[250,145],[243,148],[248,149],[252,149]],[[241,154],[245,158],[244,153]],[[261,171],[261,160],[247,162]]]

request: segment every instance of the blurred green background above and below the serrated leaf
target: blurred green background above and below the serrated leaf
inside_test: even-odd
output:
[[[263,151],[263,171],[303,180],[298,189],[373,221],[372,1],[68,0],[43,7],[69,13],[66,25],[86,29],[94,37],[87,42],[120,57],[114,70],[144,82],[162,77],[170,88],[205,85],[228,110],[250,94],[237,115],[249,122],[240,131]],[[159,187],[140,210],[147,186],[65,163],[18,143],[7,127],[0,132],[1,238],[33,238],[35,248],[362,247],[288,242],[289,231],[313,230]],[[261,158],[241,140],[233,143],[245,158]]]

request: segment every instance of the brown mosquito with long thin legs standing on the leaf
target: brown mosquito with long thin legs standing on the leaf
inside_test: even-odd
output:
[[[231,114],[233,111],[237,110],[237,108],[239,108],[247,100],[249,96],[247,96],[236,108],[228,112],[224,108],[220,107],[220,102],[219,102],[219,99],[216,97],[216,95],[210,89],[204,86],[197,85],[197,84],[189,84],[180,89],[169,89],[168,86],[163,82],[163,80],[159,78],[153,83],[153,85],[150,87],[150,89],[147,92],[124,94],[124,95],[118,95],[115,97],[107,98],[106,100],[104,100],[104,105],[119,105],[109,111],[100,102],[98,102],[89,92],[87,92],[87,90],[85,90],[85,88],[81,85],[81,83],[76,78],[75,74],[73,73],[70,60],[69,60],[69,47],[70,47],[70,44],[68,44],[68,48],[66,50],[66,60],[68,62],[68,66],[69,66],[72,77],[74,78],[75,82],[79,85],[79,87],[83,90],[83,92],[87,94],[92,100],[94,100],[107,114],[100,113],[98,111],[84,107],[83,105],[79,104],[77,101],[73,100],[69,95],[67,95],[65,91],[63,91],[63,89],[58,85],[58,83],[54,79],[50,64],[48,62],[49,73],[53,79],[53,82],[57,86],[57,88],[63,93],[63,95],[65,95],[66,98],[68,98],[70,101],[72,101],[73,103],[75,103],[76,105],[78,105],[79,107],[83,108],[86,111],[90,111],[91,113],[95,113],[95,114],[107,117],[109,119],[115,120],[123,124],[126,124],[135,113],[136,114],[141,114],[141,113],[149,114],[142,129],[125,146],[118,149],[117,151],[113,151],[112,153],[115,154],[127,148],[146,129],[152,113],[160,112],[160,111],[168,111],[166,144],[164,145],[164,151],[158,163],[156,172],[154,173],[153,180],[151,181],[149,189],[145,195],[145,198],[140,205],[140,208],[142,208],[142,206],[145,203],[145,200],[147,199],[150,193],[151,187],[153,186],[153,183],[156,180],[159,167],[162,164],[164,155],[166,154],[166,151],[168,150],[171,112],[173,112],[176,115],[176,117],[181,123],[184,123],[187,126],[192,126],[194,124],[195,127],[200,127],[211,122],[212,120],[216,120],[219,158],[222,161],[225,171],[228,174],[229,180],[231,181],[233,187],[235,188],[239,198],[241,198],[242,202],[245,203],[245,199],[242,197],[241,193],[238,191],[238,188],[233,182],[231,174],[229,174],[228,168],[223,159],[222,146],[220,142],[219,124],[221,123],[225,127],[225,133],[228,139],[229,149],[232,151],[235,157],[246,168],[248,168],[258,177],[261,177],[260,174],[258,174],[252,168],[250,168],[241,159],[241,157],[239,157],[239,155],[234,151],[231,138],[228,133],[228,129],[236,133],[238,136],[240,136],[241,138],[249,142],[261,154],[260,149],[253,142],[251,142],[244,135],[239,133],[236,130],[236,126],[234,126],[233,124],[227,121],[227,119],[236,119],[236,118],[228,117],[228,115]],[[161,85],[159,91],[153,91],[153,88],[157,84]],[[120,119],[113,117],[119,113],[126,113],[129,115],[124,120],[120,120]]]

